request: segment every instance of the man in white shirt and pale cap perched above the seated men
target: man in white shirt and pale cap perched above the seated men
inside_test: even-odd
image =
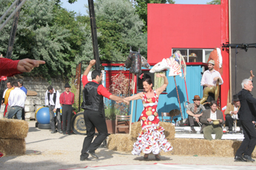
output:
[[[206,97],[203,96],[202,100],[201,100],[201,104],[207,100],[207,101],[215,101],[217,100],[215,98],[215,94],[212,93],[212,90],[210,90],[209,88],[211,88],[212,86],[216,86],[217,81],[219,81],[219,85],[223,84],[223,79],[221,78],[220,72],[216,71],[214,69],[215,66],[215,61],[214,60],[210,60],[208,62],[208,70],[206,70],[205,72],[203,72],[203,77],[201,79],[201,86],[203,86],[203,95],[206,95]],[[215,92],[215,89],[214,89]]]

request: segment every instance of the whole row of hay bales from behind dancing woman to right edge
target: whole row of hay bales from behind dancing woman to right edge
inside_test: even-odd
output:
[[[242,141],[239,140],[205,140],[191,138],[175,138],[175,126],[172,123],[160,122],[164,128],[164,135],[173,147],[171,152],[161,151],[161,155],[198,155],[234,157]],[[131,135],[113,134],[108,137],[108,148],[118,152],[132,152],[133,143],[141,132],[141,123],[132,123]],[[256,157],[256,149],[252,152]]]

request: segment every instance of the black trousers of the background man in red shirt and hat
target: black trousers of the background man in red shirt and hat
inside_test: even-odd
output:
[[[71,117],[73,108],[72,105],[63,104],[62,105],[62,131],[71,132]]]

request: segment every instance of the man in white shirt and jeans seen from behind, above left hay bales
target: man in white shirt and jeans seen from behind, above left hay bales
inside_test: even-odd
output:
[[[13,90],[10,92],[8,99],[8,104],[10,106],[10,111],[7,118],[13,118],[14,115],[17,116],[17,119],[21,120],[22,109],[24,108],[25,100],[27,95],[18,87],[18,82],[13,82]]]

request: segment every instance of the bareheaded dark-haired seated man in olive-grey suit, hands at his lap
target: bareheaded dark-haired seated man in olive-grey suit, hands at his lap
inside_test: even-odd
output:
[[[203,132],[203,137],[206,140],[212,140],[212,133],[215,134],[215,139],[221,139],[223,135],[222,125],[225,123],[222,112],[217,110],[217,102],[211,101],[211,109],[206,109],[203,111],[203,115],[200,118],[203,126],[201,132]],[[219,120],[218,125],[214,125],[212,120]]]

